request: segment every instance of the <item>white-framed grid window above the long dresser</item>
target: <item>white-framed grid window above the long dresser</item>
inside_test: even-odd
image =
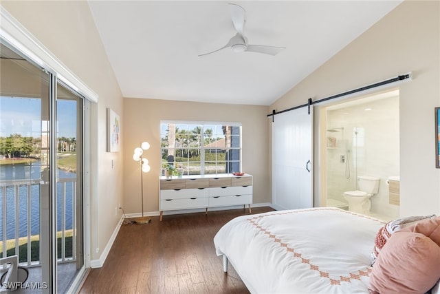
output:
[[[241,124],[161,121],[162,164],[175,174],[229,174],[241,170]]]

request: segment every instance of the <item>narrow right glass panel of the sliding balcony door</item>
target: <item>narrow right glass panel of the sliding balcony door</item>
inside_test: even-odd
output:
[[[57,285],[66,293],[83,267],[82,99],[57,85]]]

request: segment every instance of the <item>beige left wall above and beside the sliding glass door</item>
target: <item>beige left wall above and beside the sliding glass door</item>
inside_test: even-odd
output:
[[[123,100],[87,1],[1,1],[28,31],[99,95],[91,104],[91,260],[98,260],[122,213],[123,150],[106,152],[107,107],[121,116]],[[124,136],[124,134],[122,134]],[[111,168],[111,160],[115,163]],[[111,185],[109,185],[111,183]],[[96,249],[99,252],[96,253]]]

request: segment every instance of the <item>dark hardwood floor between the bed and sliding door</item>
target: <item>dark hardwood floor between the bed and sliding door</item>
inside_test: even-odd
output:
[[[254,207],[252,214],[272,211]],[[80,293],[249,293],[232,266],[223,273],[212,239],[248,209],[153,217],[124,224],[100,269],[91,269]]]

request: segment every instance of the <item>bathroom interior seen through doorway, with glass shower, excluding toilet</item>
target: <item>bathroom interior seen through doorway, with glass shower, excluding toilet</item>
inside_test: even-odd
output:
[[[399,90],[340,101],[320,109],[321,206],[348,209],[345,191],[358,190],[358,176],[380,178],[371,216],[398,218],[388,178],[399,176]]]

